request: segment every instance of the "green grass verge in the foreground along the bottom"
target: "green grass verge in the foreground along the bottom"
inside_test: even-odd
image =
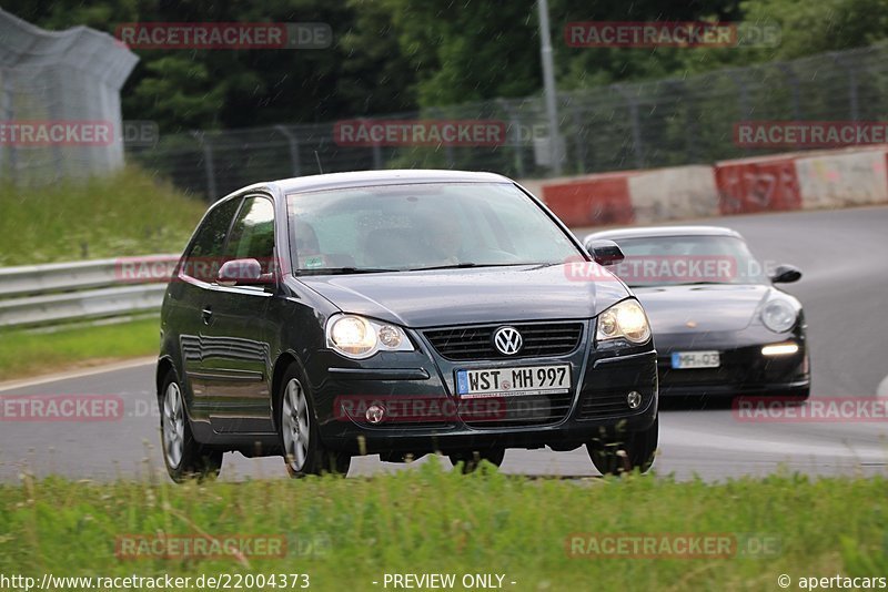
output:
[[[19,486],[0,486],[0,573],[301,572],[312,589],[351,591],[384,590],[383,574],[397,572],[500,573],[506,590],[676,591],[778,590],[783,573],[794,581],[888,573],[884,478],[781,474],[707,484],[636,474],[577,483],[497,472],[465,477],[430,462],[371,479],[155,481],[23,477]],[[755,534],[777,538],[779,551],[575,559],[565,541],[577,532]],[[284,558],[115,555],[118,537],[163,533],[280,534],[291,544]],[[300,551],[296,538],[315,547]]]

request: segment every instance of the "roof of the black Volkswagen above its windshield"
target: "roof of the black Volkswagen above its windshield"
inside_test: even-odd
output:
[[[398,185],[404,183],[514,183],[496,173],[475,173],[433,169],[392,171],[356,171],[322,175],[282,178],[263,185],[276,185],[282,193],[304,193],[321,190],[341,190],[369,185]]]

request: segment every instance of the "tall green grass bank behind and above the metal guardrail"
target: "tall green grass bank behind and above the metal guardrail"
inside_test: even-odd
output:
[[[180,252],[206,204],[137,169],[83,182],[0,185],[0,267]]]

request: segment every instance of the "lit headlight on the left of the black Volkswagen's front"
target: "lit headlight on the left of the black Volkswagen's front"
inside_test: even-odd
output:
[[[343,356],[361,359],[376,351],[413,351],[401,327],[357,315],[337,315],[326,324],[326,345]]]

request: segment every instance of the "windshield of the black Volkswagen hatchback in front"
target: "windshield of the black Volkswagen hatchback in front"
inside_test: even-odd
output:
[[[567,235],[507,183],[406,184],[287,196],[295,273],[563,263]]]

